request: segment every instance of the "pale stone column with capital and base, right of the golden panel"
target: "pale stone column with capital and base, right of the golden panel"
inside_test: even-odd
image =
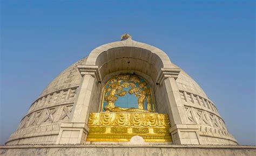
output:
[[[188,123],[186,111],[179,93],[178,78],[179,68],[161,68],[157,77],[159,90],[164,93],[163,97],[166,103],[163,107],[169,114],[174,144],[199,144],[199,129],[197,124]]]

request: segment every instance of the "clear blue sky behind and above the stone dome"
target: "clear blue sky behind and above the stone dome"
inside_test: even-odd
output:
[[[0,144],[54,77],[124,32],[165,51],[255,145],[253,1],[1,1]]]

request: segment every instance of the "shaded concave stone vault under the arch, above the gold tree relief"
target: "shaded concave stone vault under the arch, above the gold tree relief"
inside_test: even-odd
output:
[[[149,75],[154,82],[163,68],[158,55],[136,47],[118,47],[104,51],[98,55],[96,65],[102,77],[120,70],[136,70]]]

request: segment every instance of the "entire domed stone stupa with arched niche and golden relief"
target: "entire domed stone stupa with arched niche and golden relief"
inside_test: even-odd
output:
[[[106,145],[107,151],[132,145],[227,148],[223,145],[238,142],[197,82],[161,49],[125,33],[63,70],[31,104],[5,145],[16,150],[22,145],[33,150]]]

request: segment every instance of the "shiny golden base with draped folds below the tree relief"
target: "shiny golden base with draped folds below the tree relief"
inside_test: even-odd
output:
[[[87,141],[130,141],[133,136],[150,142],[171,142],[167,114],[152,112],[91,113]]]

